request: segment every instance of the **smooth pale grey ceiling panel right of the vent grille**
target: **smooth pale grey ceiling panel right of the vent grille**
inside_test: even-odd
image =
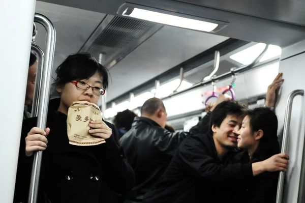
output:
[[[107,101],[227,39],[164,26],[110,69],[112,83],[109,85]]]

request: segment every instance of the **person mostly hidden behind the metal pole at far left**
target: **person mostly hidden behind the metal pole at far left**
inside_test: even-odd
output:
[[[38,65],[37,57],[31,51],[31,55],[29,57],[29,66],[28,66],[28,74],[27,74],[27,82],[26,82],[23,119],[27,119],[31,117],[31,111],[29,109],[32,107],[33,98],[34,98],[37,65]]]

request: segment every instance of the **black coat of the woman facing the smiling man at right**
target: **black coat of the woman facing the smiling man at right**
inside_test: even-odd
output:
[[[250,160],[248,151],[239,153],[234,157],[235,162],[255,163],[280,153],[278,140],[267,145],[260,145]],[[279,172],[263,172],[242,185],[236,195],[236,203],[275,203],[277,199]]]

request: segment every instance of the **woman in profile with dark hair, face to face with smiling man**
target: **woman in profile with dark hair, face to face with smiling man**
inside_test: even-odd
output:
[[[249,110],[238,131],[238,148],[245,151],[235,156],[235,162],[264,161],[280,152],[278,119],[268,108]],[[236,202],[276,202],[279,172],[263,172],[242,185]]]

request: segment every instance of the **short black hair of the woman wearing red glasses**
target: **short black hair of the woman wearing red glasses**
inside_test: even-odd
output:
[[[103,88],[108,88],[108,70],[89,53],[76,53],[56,69],[56,85],[63,86],[73,80],[82,80],[92,77],[98,72],[102,79]]]

